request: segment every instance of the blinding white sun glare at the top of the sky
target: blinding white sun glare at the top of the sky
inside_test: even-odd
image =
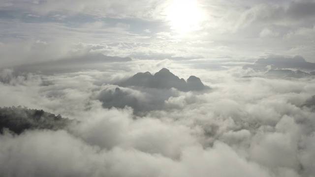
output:
[[[200,23],[205,20],[205,13],[197,0],[173,0],[167,8],[167,20],[171,29],[185,34],[202,29]]]

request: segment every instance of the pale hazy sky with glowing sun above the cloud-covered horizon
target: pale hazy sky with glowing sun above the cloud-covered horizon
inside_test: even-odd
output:
[[[313,0],[1,0],[1,65],[87,53],[315,61],[314,6]]]

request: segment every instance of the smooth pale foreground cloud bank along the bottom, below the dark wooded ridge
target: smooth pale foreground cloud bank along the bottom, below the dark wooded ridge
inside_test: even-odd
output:
[[[3,154],[0,161],[1,174],[6,176],[268,176],[264,169],[240,158],[232,149],[220,143],[210,150],[200,147],[185,148],[183,158],[175,161],[135,149],[99,150],[64,131],[33,131],[15,138],[5,135],[0,141],[5,145],[1,146],[1,152],[5,152],[5,148],[11,148],[11,153]],[[21,146],[22,148],[18,148]],[[30,149],[36,151],[30,152]],[[54,155],[51,156],[47,151]],[[19,157],[24,160],[18,159]],[[230,164],[232,168],[224,170],[221,168],[224,164]]]

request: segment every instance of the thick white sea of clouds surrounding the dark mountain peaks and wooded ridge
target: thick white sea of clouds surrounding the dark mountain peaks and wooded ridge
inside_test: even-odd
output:
[[[131,61],[126,67],[133,68],[131,63],[139,65]],[[140,65],[142,69],[153,66],[143,63],[147,65]],[[158,71],[155,67],[153,71]],[[121,72],[128,78],[138,70]],[[184,76],[198,73],[174,70],[185,72]],[[311,176],[315,173],[314,77],[240,77],[247,72],[256,73],[243,70],[242,63],[225,70],[202,70],[200,78],[211,81],[213,89],[198,93],[116,89],[112,75],[117,72],[95,70],[33,75],[10,84],[19,76],[6,70],[3,78],[7,79],[0,83],[5,91],[0,93],[2,107],[25,105],[80,122],[66,129],[26,130],[20,135],[4,131],[0,174]],[[40,82],[34,82],[36,78]],[[135,114],[134,98],[146,114]],[[104,109],[103,104],[110,106]]]

